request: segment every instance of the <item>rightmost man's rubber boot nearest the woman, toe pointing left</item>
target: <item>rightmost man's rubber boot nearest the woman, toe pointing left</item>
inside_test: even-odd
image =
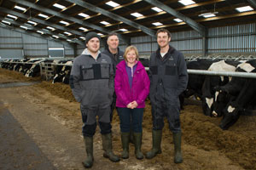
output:
[[[153,130],[152,140],[153,140],[153,147],[146,154],[147,159],[152,159],[157,154],[162,153],[162,150],[161,150],[162,130]]]

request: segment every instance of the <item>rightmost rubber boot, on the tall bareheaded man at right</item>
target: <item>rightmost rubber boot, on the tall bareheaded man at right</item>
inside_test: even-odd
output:
[[[172,133],[174,143],[174,162],[182,163],[183,155],[181,152],[181,136],[182,133]]]

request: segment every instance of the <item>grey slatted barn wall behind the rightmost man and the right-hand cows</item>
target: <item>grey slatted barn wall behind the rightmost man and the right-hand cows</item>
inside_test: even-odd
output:
[[[208,30],[208,54],[241,53],[253,54],[256,51],[256,23],[238,26],[224,26]],[[202,38],[196,31],[172,32],[170,43],[183,54],[202,54]],[[158,48],[152,37],[132,37],[141,55],[149,55]]]

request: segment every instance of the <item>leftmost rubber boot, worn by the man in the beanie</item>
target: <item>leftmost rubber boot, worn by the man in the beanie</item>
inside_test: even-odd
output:
[[[83,165],[85,168],[90,168],[93,165],[93,138],[84,137],[84,144],[87,157],[85,161],[83,161]]]

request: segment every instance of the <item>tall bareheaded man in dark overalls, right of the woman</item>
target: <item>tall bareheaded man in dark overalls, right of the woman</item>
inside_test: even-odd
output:
[[[146,154],[151,159],[161,153],[162,129],[164,117],[167,117],[169,128],[172,131],[175,149],[174,162],[183,162],[181,152],[181,127],[179,94],[186,88],[188,73],[183,54],[169,45],[171,33],[160,29],[156,33],[160,48],[151,54],[149,61],[150,93],[153,118],[153,147]]]

